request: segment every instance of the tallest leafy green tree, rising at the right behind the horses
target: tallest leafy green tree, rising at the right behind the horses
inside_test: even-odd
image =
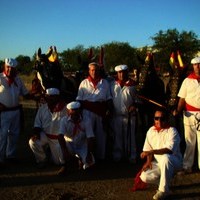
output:
[[[200,50],[200,40],[192,31],[179,33],[177,29],[160,30],[152,40],[156,65],[160,67],[169,66],[170,54],[177,51],[180,51],[184,64],[188,66],[191,58]]]

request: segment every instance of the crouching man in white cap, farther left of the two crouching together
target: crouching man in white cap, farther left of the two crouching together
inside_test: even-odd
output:
[[[33,136],[29,140],[38,168],[45,167],[49,160],[48,155],[54,164],[64,163],[58,142],[58,131],[60,120],[67,113],[66,104],[61,100],[60,92],[56,88],[46,90],[45,100],[47,103],[40,106],[37,111]]]

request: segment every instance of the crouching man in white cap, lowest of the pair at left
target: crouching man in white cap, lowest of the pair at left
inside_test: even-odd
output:
[[[86,169],[94,165],[94,133],[89,119],[83,119],[80,103],[73,101],[67,104],[68,115],[60,123],[59,143],[65,164],[58,175]]]

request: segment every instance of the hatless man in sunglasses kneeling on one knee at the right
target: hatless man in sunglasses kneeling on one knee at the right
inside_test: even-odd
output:
[[[147,131],[141,158],[146,158],[140,178],[145,183],[158,184],[153,199],[164,199],[169,194],[170,182],[182,167],[180,136],[167,123],[165,110],[157,109],[154,126]]]

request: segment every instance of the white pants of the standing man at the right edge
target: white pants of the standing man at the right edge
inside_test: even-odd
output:
[[[198,167],[200,169],[200,129],[198,131],[196,128],[197,121],[195,119],[195,114],[197,113],[185,112],[183,115],[184,136],[186,143],[186,149],[183,158],[184,169],[192,168],[194,164],[196,143],[198,150]]]

